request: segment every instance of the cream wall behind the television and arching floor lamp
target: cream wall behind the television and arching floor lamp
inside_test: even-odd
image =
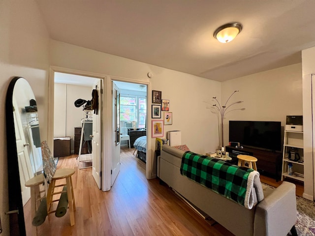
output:
[[[245,110],[232,111],[224,118],[225,144],[229,142],[229,120],[281,121],[284,127],[286,116],[303,115],[301,63],[223,82],[224,103],[234,90],[239,92],[231,97],[230,102],[243,103],[233,105],[231,110]]]

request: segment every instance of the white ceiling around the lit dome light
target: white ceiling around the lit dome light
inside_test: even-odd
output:
[[[36,0],[52,39],[225,81],[301,62],[315,0]],[[215,29],[240,22],[230,43]]]

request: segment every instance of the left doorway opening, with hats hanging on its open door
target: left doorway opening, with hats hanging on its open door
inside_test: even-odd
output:
[[[69,154],[78,155],[78,169],[92,168],[98,188],[101,188],[102,84],[101,78],[54,73],[54,139],[70,138]]]

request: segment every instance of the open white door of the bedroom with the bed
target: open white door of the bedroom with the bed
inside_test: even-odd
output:
[[[111,170],[111,186],[113,186],[115,179],[120,171],[120,115],[119,115],[119,104],[120,104],[120,92],[119,88],[114,82],[113,84],[113,124],[112,124],[112,134],[113,134],[113,156],[112,156],[112,170]]]

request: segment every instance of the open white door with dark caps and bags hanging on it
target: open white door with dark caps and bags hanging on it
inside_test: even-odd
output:
[[[102,80],[98,80],[95,87],[98,94],[97,114],[93,113],[93,139],[92,139],[92,175],[98,188],[102,184]]]

